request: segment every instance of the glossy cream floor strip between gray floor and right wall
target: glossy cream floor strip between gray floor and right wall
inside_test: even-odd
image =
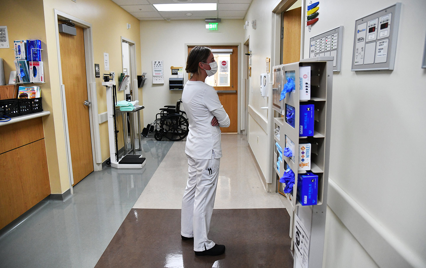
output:
[[[215,209],[284,208],[280,194],[263,188],[246,136],[222,134]],[[188,177],[185,142],[175,142],[133,208],[180,209]]]

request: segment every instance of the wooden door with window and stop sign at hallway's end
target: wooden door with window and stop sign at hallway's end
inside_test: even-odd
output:
[[[194,46],[188,46],[189,51]],[[238,132],[238,46],[209,46],[212,49],[232,49],[229,60],[229,86],[214,86],[219,95],[219,100],[223,108],[227,112],[231,124],[227,128],[220,128],[222,133],[236,133]],[[216,58],[218,55],[213,53]],[[217,61],[217,60],[216,60]],[[215,79],[219,79],[221,63],[217,63],[218,71],[214,75]],[[233,93],[221,93],[220,91],[235,91]]]

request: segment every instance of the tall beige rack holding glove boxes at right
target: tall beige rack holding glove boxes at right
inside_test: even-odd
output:
[[[299,100],[299,67],[311,67],[311,99]],[[289,235],[292,238],[291,248],[295,239],[295,215],[297,215],[308,231],[310,231],[310,247],[308,267],[322,266],[322,253],[324,247],[325,214],[327,210],[328,164],[330,155],[330,130],[331,130],[331,95],[333,84],[333,57],[314,57],[273,67],[273,172],[272,180],[276,180],[276,188],[286,197],[285,207],[290,215]],[[279,71],[277,71],[279,70]],[[279,94],[286,82],[286,72],[294,72],[295,90],[287,93],[285,99],[279,101]],[[278,76],[278,77],[277,77]],[[286,122],[286,104],[294,107],[294,125]],[[314,135],[299,137],[299,105],[314,104]],[[271,108],[271,107],[270,107]],[[277,131],[279,128],[279,131]],[[286,147],[285,139],[289,138],[294,143],[293,160],[278,152],[276,143],[281,148]],[[311,168],[299,170],[299,143],[311,143]],[[281,162],[280,162],[281,161]],[[277,163],[278,162],[278,163]],[[277,166],[279,165],[279,167]],[[285,184],[279,182],[284,171],[291,168],[294,172],[294,186],[291,193],[283,192]],[[318,175],[317,205],[304,205],[297,200],[298,174],[312,172]]]

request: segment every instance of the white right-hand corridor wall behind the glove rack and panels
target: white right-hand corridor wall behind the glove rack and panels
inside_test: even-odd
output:
[[[265,57],[271,57],[271,6],[278,2],[253,0],[245,18],[257,20],[257,29],[245,33],[253,52],[253,87]],[[355,20],[394,1],[322,1],[319,21],[305,31],[307,58],[310,37],[344,26],[342,68],[333,77],[323,267],[426,267],[426,70],[420,68],[426,24],[418,21],[426,2],[401,2],[393,71],[353,72],[351,60]],[[249,105],[266,120],[260,110],[266,100],[254,92]],[[257,136],[259,127],[249,125],[248,132]],[[253,138],[249,143],[262,167],[266,149]]]

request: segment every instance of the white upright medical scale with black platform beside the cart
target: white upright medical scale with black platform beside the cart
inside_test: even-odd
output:
[[[126,154],[118,158],[118,139],[117,139],[117,112],[115,104],[117,103],[117,88],[115,86],[115,73],[104,74],[102,86],[107,88],[107,115],[108,115],[108,136],[109,136],[109,163],[113,168],[143,168],[145,158],[138,154]],[[128,77],[126,77],[128,79]],[[125,86],[125,79],[120,86]],[[124,115],[123,115],[124,116]],[[127,146],[125,144],[124,146]],[[107,161],[108,164],[108,161]]]

